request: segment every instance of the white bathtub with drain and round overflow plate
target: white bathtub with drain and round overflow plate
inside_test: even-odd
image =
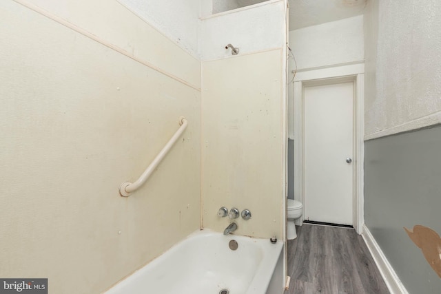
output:
[[[265,294],[282,249],[283,242],[197,231],[105,293]]]

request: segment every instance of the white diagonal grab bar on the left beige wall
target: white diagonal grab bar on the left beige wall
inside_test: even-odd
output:
[[[135,191],[136,189],[138,189],[139,187],[141,187],[145,183],[147,178],[149,178],[149,176],[152,174],[154,169],[156,169],[156,167],[159,165],[159,162],[161,162],[161,160],[163,160],[163,158],[165,157],[167,152],[172,148],[172,146],[174,145],[176,140],[178,140],[179,136],[181,136],[181,134],[184,132],[185,128],[188,125],[188,122],[185,119],[185,117],[181,116],[179,118],[179,125],[181,125],[181,127],[179,127],[179,129],[176,131],[176,133],[174,133],[172,138],[167,142],[167,144],[165,144],[165,146],[163,147],[161,152],[159,152],[159,154],[154,158],[152,163],[150,163],[150,165],[147,167],[147,169],[145,169],[145,171],[139,177],[139,179],[133,183],[132,182],[123,182],[121,184],[121,186],[119,186],[119,193],[121,194],[121,196],[124,196],[124,197],[130,196],[130,193],[132,193],[133,191]]]

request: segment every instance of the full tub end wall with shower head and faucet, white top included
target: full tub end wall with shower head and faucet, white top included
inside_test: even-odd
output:
[[[238,218],[235,233],[283,239],[285,7],[273,1],[201,23],[203,227],[223,231],[229,220],[218,209],[236,207],[252,218]]]

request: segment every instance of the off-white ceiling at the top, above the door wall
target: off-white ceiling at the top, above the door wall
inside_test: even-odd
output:
[[[225,1],[225,0],[224,0]],[[238,7],[253,5],[265,0],[235,1]],[[288,0],[289,30],[297,30],[310,25],[338,21],[363,14],[367,0]]]

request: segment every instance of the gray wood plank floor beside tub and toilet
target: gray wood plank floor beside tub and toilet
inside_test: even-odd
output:
[[[389,294],[362,237],[354,229],[303,224],[288,240],[285,294]]]

